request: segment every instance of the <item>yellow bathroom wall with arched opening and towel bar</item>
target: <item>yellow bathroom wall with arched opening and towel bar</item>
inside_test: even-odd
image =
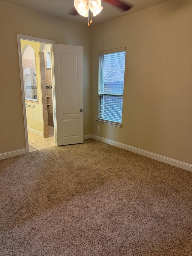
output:
[[[35,101],[25,101],[29,105],[35,105],[35,107],[26,106],[26,116],[27,116],[27,126],[29,128],[35,129],[36,131],[42,132],[43,136],[43,108],[42,108],[42,97],[41,97],[41,73],[39,65],[39,52],[42,51],[42,44],[38,42],[21,40],[21,49],[25,49],[26,46],[30,45],[35,51],[35,68],[36,68],[36,81],[37,81],[37,91],[38,91],[38,102]],[[22,53],[24,51],[22,50]],[[25,53],[25,52],[24,52]],[[25,54],[26,56],[26,54]],[[26,56],[26,59],[28,57]],[[30,59],[30,56],[29,56]]]

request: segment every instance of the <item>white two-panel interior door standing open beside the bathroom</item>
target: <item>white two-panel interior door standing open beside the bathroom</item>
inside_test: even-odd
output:
[[[56,145],[83,143],[83,47],[53,44]]]

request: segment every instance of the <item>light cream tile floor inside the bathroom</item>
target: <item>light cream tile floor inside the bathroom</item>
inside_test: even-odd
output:
[[[43,138],[31,131],[28,131],[29,152],[54,147],[54,130],[49,126],[49,137]]]

